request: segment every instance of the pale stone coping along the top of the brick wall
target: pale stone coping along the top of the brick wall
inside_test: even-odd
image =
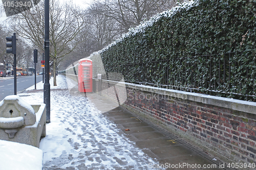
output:
[[[94,80],[98,81],[98,79],[94,79]],[[125,86],[125,87],[133,88],[136,90],[153,92],[156,94],[170,96],[171,98],[190,100],[190,101],[200,102],[203,104],[214,105],[218,107],[256,114],[256,102],[248,102],[248,101],[223,98],[220,96],[214,96],[214,95],[208,95],[208,94],[158,88],[158,87],[145,86],[145,85],[139,85],[139,84],[133,84],[133,83],[117,82],[112,80],[102,80],[102,82],[104,81],[109,82],[110,84],[118,83],[119,86]]]

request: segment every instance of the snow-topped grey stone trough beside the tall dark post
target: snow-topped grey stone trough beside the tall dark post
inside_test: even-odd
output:
[[[45,104],[29,105],[18,95],[0,102],[0,139],[39,148],[40,138],[45,136]]]

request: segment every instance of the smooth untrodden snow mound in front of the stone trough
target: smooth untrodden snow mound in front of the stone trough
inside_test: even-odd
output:
[[[0,140],[0,169],[41,170],[42,151],[31,145]]]

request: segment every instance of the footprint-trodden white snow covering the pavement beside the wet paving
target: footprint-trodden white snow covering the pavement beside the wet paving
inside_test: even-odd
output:
[[[58,88],[67,89],[65,82],[65,77],[57,76]],[[20,95],[30,104],[43,101],[43,92],[26,94]],[[46,129],[40,142],[45,169],[148,169],[148,163],[157,164],[87,98],[68,90],[51,91],[51,123]]]

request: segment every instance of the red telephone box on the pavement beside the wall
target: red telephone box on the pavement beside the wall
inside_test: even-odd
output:
[[[80,92],[93,91],[93,61],[80,59],[78,63],[78,90]]]

